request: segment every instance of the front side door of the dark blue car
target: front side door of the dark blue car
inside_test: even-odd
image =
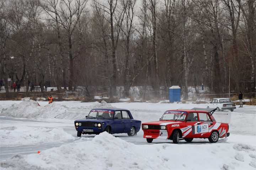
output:
[[[115,134],[123,133],[124,121],[122,119],[122,111],[116,111],[114,114],[114,123],[112,124],[112,132]]]

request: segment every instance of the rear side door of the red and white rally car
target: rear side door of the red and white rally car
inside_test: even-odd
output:
[[[198,113],[199,123],[201,126],[200,136],[209,137],[209,127],[213,126],[213,122],[207,113]]]

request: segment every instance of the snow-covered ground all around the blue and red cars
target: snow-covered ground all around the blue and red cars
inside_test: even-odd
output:
[[[38,103],[41,106],[32,100],[0,102],[1,169],[256,169],[256,106],[214,113],[217,121],[231,117],[228,138],[173,144],[160,139],[147,143],[142,130],[133,137],[102,133],[79,138],[74,120],[85,118],[92,108],[116,107],[129,109],[142,122],[155,121],[168,109],[206,104]]]

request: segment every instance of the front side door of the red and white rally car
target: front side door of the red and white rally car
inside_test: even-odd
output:
[[[187,119],[186,119],[186,126],[188,128],[188,131],[185,133],[184,136],[191,137],[191,138],[199,137],[200,135],[199,133],[201,129],[198,125],[200,125],[200,122],[198,121],[197,113],[195,112],[188,113]]]

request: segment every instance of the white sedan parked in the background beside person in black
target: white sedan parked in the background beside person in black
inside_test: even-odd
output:
[[[236,105],[229,98],[214,98],[207,108],[217,108],[217,111],[230,110],[233,112]]]

